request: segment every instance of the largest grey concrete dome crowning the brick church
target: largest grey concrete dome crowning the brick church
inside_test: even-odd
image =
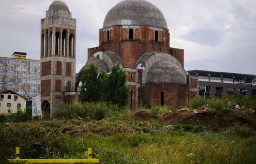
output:
[[[103,28],[114,25],[148,25],[167,29],[162,12],[145,0],[124,0],[110,9]]]

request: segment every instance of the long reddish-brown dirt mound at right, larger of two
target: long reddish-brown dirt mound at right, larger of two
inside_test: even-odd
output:
[[[256,116],[238,110],[178,111],[163,116],[163,122],[176,124],[201,124],[212,129],[225,128],[234,123],[246,124],[256,129]]]

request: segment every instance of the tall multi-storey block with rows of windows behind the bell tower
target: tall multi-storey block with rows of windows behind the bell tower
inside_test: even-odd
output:
[[[0,91],[11,90],[28,99],[39,95],[40,61],[26,55],[14,52],[11,58],[0,57]]]

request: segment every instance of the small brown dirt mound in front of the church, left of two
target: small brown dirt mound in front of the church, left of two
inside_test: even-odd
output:
[[[150,113],[148,111],[145,111],[145,110],[128,113],[127,120],[132,120],[132,121],[155,121],[155,119],[153,119],[150,116]]]

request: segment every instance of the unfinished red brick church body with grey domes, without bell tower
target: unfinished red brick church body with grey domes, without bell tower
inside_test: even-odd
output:
[[[184,50],[170,48],[164,15],[145,0],[124,0],[109,10],[99,47],[88,49],[84,67],[92,62],[107,71],[120,62],[127,70],[131,109],[140,103],[181,106],[197,94],[197,78],[184,70]]]

